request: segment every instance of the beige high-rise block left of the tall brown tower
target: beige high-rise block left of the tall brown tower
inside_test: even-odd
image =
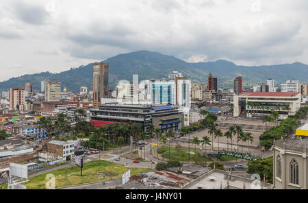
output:
[[[46,81],[45,82],[45,101],[61,100],[61,82]]]

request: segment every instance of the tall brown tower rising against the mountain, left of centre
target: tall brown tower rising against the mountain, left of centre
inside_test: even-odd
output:
[[[95,62],[93,64],[93,106],[99,107],[101,98],[108,97],[109,64]]]

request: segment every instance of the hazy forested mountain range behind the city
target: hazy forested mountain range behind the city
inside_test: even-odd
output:
[[[188,63],[174,56],[166,56],[152,51],[136,51],[120,54],[108,58],[105,62],[110,64],[110,89],[116,86],[118,80],[133,80],[133,74],[139,75],[139,80],[153,77],[168,77],[172,71],[180,71],[189,77],[192,82],[207,83],[209,72],[218,77],[218,87],[233,86],[233,79],[243,77],[243,86],[252,86],[265,82],[272,78],[276,84],[285,82],[287,79],[296,79],[308,82],[308,66],[300,62],[271,66],[246,67],[238,66],[226,60],[215,62]],[[92,90],[92,64],[70,69],[61,73],[36,73],[13,77],[5,82],[0,82],[0,92],[10,87],[24,87],[25,82],[31,82],[34,90],[40,90],[40,81],[58,80],[62,82],[62,89],[77,92],[80,86],[87,86]]]

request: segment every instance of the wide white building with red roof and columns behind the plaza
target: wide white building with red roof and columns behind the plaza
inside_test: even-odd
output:
[[[300,93],[254,93],[246,92],[234,96],[233,115],[246,117],[264,117],[271,110],[279,113],[279,119],[295,115],[300,108]]]

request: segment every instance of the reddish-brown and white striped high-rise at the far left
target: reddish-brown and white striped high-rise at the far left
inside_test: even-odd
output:
[[[10,88],[10,109],[24,110],[25,90],[24,88]]]

